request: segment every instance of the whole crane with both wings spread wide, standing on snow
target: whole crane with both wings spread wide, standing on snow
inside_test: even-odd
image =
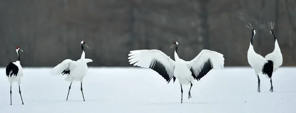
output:
[[[193,80],[199,81],[204,75],[206,75],[211,69],[222,69],[224,67],[224,57],[222,54],[210,51],[202,50],[195,58],[190,61],[185,61],[178,57],[178,42],[174,42],[175,48],[175,61],[165,55],[159,50],[134,50],[128,54],[130,64],[134,66],[140,66],[150,68],[160,74],[168,83],[171,79],[177,78],[181,84],[181,92],[183,100],[182,85],[191,84]],[[171,48],[172,48],[171,47]],[[188,92],[188,98],[191,97],[190,89]]]

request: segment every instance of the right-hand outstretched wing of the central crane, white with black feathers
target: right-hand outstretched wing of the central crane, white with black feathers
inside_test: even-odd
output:
[[[195,58],[186,61],[186,63],[192,76],[199,81],[210,70],[223,69],[224,57],[222,54],[215,51],[202,50]]]

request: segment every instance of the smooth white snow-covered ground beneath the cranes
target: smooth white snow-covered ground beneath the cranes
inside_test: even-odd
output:
[[[12,85],[10,106],[9,83],[5,68],[0,68],[0,113],[296,113],[296,67],[281,67],[274,73],[274,92],[270,82],[257,77],[249,67],[226,67],[212,70],[199,82],[181,89],[167,84],[155,71],[143,68],[90,67],[83,82],[85,102],[80,84],[72,85],[66,76],[50,76],[50,68],[24,68],[21,90]]]

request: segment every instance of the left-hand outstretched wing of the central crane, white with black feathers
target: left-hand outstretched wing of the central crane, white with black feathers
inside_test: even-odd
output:
[[[134,64],[134,66],[151,68],[167,81],[174,77],[175,61],[159,50],[134,50],[130,51],[128,56],[130,56],[128,57],[130,64]],[[160,68],[159,65],[161,64],[165,68],[166,73],[164,73],[164,69]],[[157,67],[154,66],[159,68],[156,69]]]

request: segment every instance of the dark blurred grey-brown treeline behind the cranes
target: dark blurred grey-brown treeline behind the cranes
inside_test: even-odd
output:
[[[130,66],[131,50],[170,49],[191,60],[202,49],[220,52],[225,66],[249,66],[251,32],[263,57],[274,49],[270,22],[283,54],[283,66],[296,61],[296,0],[0,0],[0,66],[21,63],[55,66],[81,56],[86,41],[90,66]]]

